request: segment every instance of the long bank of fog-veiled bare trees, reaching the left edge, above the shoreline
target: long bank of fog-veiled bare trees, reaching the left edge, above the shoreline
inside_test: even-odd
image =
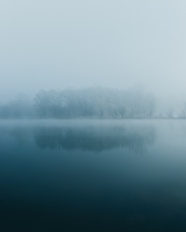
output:
[[[19,95],[1,104],[1,118],[152,118],[152,93],[137,89],[86,88],[42,90],[33,100]]]

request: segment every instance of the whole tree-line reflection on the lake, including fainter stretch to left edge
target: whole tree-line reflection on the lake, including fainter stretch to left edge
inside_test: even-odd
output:
[[[0,144],[34,141],[39,149],[102,152],[128,149],[143,153],[156,139],[151,125],[33,125],[1,127]]]

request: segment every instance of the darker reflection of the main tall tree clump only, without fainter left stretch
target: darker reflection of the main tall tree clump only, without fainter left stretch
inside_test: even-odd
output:
[[[43,127],[35,131],[38,147],[100,152],[127,148],[142,153],[155,140],[153,127]]]

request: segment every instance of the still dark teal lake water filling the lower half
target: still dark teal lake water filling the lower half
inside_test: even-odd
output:
[[[1,121],[5,231],[186,231],[186,121]]]

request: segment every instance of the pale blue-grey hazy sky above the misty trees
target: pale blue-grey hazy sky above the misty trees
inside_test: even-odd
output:
[[[1,0],[0,96],[140,85],[186,96],[185,0]]]

